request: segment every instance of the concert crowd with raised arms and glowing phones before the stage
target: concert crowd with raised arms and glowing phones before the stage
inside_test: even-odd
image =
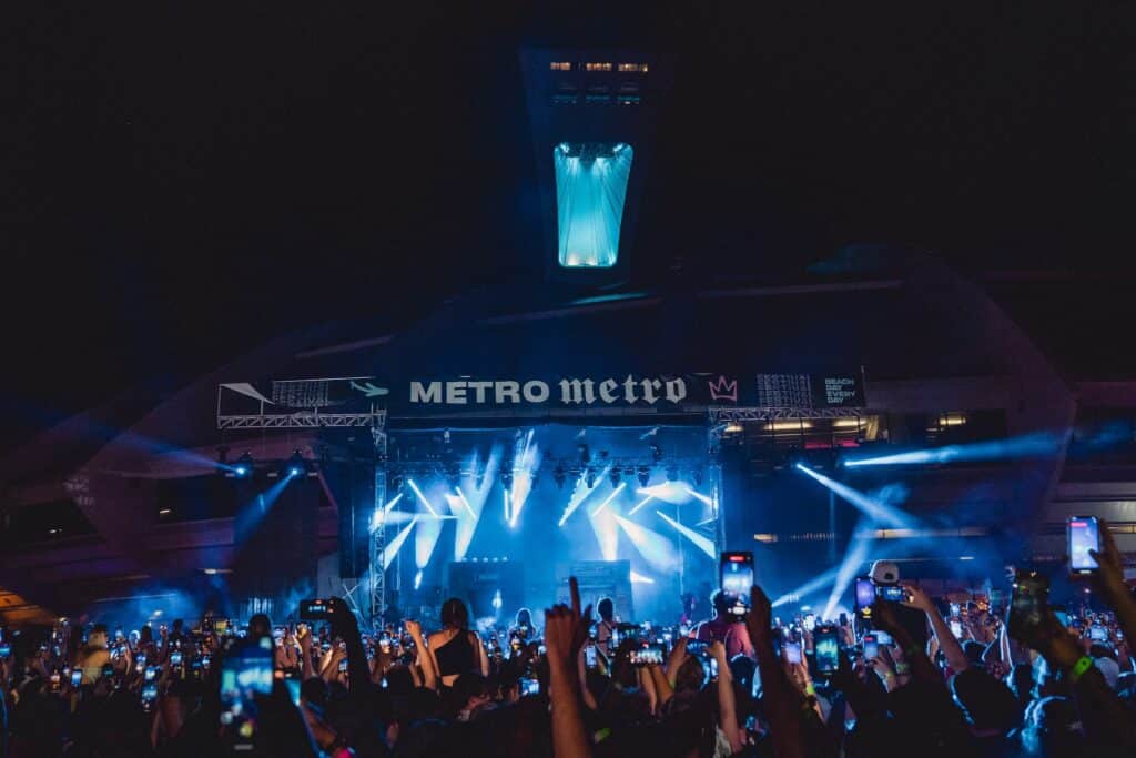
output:
[[[1005,607],[903,585],[851,618],[783,622],[755,586],[651,628],[610,600],[593,620],[571,581],[540,631],[521,611],[478,633],[451,599],[429,634],[365,635],[335,600],[276,627],[6,633],[0,758],[1133,756],[1136,600],[1102,531],[1096,613],[1019,575]]]

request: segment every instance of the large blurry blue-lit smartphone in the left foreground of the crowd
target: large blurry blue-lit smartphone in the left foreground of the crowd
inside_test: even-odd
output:
[[[220,667],[220,726],[233,751],[256,749],[258,697],[273,691],[273,651],[243,644],[225,656]]]

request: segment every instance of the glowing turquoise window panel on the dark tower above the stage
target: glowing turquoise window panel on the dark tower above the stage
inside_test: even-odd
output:
[[[552,149],[558,255],[565,268],[616,265],[633,157],[632,147],[623,142],[561,142]]]

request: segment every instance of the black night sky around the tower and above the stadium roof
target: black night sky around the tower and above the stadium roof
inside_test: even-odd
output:
[[[778,278],[883,242],[1128,269],[1128,3],[39,5],[0,11],[2,442],[534,275],[525,43],[675,56],[641,264]]]

